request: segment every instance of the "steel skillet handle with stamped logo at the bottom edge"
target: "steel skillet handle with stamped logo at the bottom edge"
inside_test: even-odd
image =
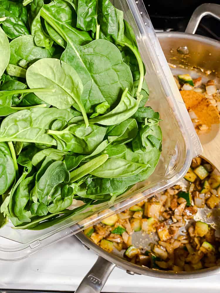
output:
[[[75,293],[100,293],[114,267],[114,263],[99,256]]]

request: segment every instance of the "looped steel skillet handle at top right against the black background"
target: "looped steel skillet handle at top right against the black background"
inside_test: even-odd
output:
[[[220,5],[219,4],[202,4],[198,6],[192,13],[185,33],[193,34],[196,32],[197,27],[203,16],[211,15],[220,20]]]

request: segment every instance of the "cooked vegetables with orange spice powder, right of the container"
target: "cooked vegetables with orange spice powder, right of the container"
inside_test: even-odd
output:
[[[220,89],[215,81],[203,83],[202,77],[192,79],[189,74],[180,74],[174,79],[197,133],[207,132],[213,124],[219,124]]]

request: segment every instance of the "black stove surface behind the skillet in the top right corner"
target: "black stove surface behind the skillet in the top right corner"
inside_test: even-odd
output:
[[[162,1],[144,0],[144,3],[156,30],[184,32],[195,8],[207,1],[168,0],[167,3],[161,5]],[[220,1],[213,3],[220,4]],[[205,16],[196,33],[220,41],[220,21],[214,17]]]

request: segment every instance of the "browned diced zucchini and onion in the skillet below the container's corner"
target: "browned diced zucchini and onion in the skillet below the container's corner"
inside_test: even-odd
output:
[[[213,225],[197,219],[200,209],[206,208],[211,217],[212,209],[219,205],[220,176],[199,157],[192,160],[184,178],[180,185],[109,217],[84,233],[104,250],[124,251],[128,261],[149,268],[180,272],[220,265],[220,238]],[[143,239],[147,234],[151,236],[148,247],[142,243],[132,245],[132,236],[138,231]]]

